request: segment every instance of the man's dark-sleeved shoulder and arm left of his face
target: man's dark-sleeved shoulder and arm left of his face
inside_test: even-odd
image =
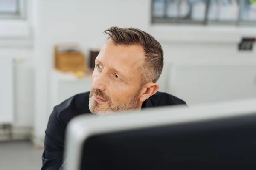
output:
[[[90,92],[76,94],[53,108],[45,130],[42,169],[61,167],[67,124],[79,114],[90,113],[89,94]]]

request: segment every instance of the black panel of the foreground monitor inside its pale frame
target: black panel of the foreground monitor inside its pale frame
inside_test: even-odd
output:
[[[246,168],[256,165],[256,114],[90,136],[80,170]]]

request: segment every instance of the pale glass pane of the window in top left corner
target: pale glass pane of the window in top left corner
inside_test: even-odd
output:
[[[0,13],[16,13],[17,0],[0,0]]]

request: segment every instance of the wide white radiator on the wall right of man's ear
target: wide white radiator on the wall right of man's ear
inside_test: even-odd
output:
[[[255,60],[173,63],[169,68],[167,92],[189,105],[256,98]]]

